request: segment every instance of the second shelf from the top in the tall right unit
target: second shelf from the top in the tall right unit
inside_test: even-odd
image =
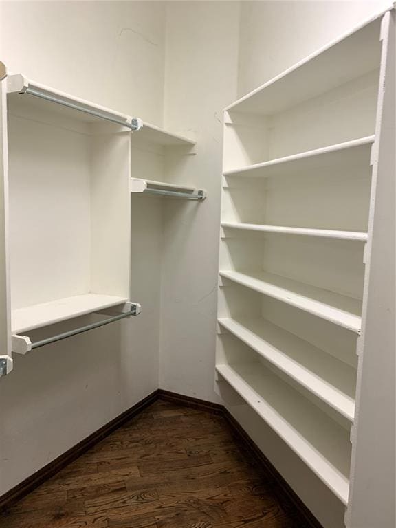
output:
[[[225,176],[241,175],[249,177],[272,177],[279,175],[299,175],[318,171],[320,168],[337,168],[349,166],[369,166],[371,146],[375,135],[360,137],[357,140],[338,143],[314,151],[306,151],[291,156],[271,159],[268,162],[256,163],[226,170]]]

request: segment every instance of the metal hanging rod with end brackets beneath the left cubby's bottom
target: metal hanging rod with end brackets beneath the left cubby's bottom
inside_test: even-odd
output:
[[[18,334],[14,334],[12,336],[12,351],[19,354],[25,354],[34,349],[39,349],[39,347],[45,347],[46,344],[76,336],[78,333],[83,333],[95,328],[103,327],[104,325],[109,325],[111,322],[115,322],[126,317],[137,316],[142,311],[142,307],[138,303],[128,303],[128,305],[129,310],[122,312],[122,314],[112,316],[102,321],[92,322],[89,325],[69,330],[67,332],[58,333],[56,336],[51,336],[50,338],[41,339],[39,341],[32,342],[28,336],[19,336]]]

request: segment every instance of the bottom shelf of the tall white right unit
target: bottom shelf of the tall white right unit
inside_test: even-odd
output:
[[[216,369],[346,505],[351,454],[347,430],[260,364],[220,364]]]

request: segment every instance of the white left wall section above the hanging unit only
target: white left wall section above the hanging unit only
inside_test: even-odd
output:
[[[1,1],[9,72],[161,125],[161,1]]]

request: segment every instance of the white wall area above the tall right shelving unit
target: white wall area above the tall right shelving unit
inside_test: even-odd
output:
[[[390,0],[242,1],[238,97],[391,3]]]

